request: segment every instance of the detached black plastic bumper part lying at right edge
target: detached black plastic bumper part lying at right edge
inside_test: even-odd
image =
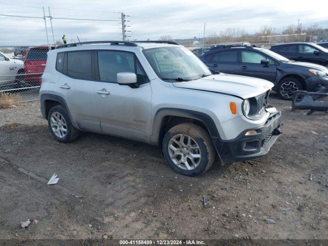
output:
[[[328,101],[319,101],[323,97],[327,97],[328,93],[324,92],[293,92],[292,111],[310,110],[306,115],[310,115],[315,111],[324,111],[328,113]]]

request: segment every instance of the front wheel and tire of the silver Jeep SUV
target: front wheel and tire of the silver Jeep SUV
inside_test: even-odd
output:
[[[192,123],[182,123],[172,127],[163,138],[162,151],[169,166],[186,176],[203,174],[209,170],[216,157],[208,132]],[[197,158],[198,156],[200,158]]]

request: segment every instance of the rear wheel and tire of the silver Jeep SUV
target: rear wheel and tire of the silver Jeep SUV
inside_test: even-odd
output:
[[[75,140],[80,133],[80,131],[72,125],[66,110],[60,105],[54,106],[49,110],[48,126],[52,135],[59,142],[71,142]],[[58,128],[59,130],[56,131]]]

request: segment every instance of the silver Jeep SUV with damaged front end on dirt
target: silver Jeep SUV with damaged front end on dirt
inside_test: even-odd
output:
[[[273,84],[213,74],[174,42],[85,42],[48,52],[40,106],[61,142],[90,131],[161,146],[180,174],[206,172],[216,157],[266,154],[281,114],[268,105]]]

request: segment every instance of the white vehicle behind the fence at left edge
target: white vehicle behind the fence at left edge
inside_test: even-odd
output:
[[[9,86],[19,73],[24,73],[24,61],[8,58],[0,52],[0,90],[3,86]]]

